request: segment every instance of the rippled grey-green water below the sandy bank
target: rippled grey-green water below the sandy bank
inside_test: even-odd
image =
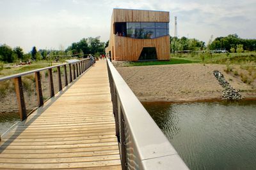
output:
[[[189,169],[256,169],[256,101],[143,106]]]

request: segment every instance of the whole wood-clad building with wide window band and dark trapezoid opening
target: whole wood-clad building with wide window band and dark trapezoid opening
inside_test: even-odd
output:
[[[113,9],[106,54],[112,60],[169,60],[168,11]]]

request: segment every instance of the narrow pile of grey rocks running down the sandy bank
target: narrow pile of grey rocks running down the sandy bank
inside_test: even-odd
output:
[[[218,70],[213,71],[214,76],[216,79],[219,81],[219,84],[221,87],[223,87],[222,91],[222,99],[223,100],[240,100],[242,99],[241,94],[234,89],[233,87],[230,86],[228,81],[225,80],[223,74],[220,73]]]

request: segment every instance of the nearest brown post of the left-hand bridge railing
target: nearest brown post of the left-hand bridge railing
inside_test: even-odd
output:
[[[14,78],[14,83],[15,83],[15,92],[17,96],[17,102],[19,105],[20,120],[23,121],[24,119],[27,118],[27,113],[26,113],[26,104],[24,100],[21,77],[19,76],[17,78]]]

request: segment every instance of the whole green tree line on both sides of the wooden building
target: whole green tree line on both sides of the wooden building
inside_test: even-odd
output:
[[[63,60],[61,56],[77,56],[83,57],[88,54],[99,56],[104,53],[104,49],[108,46],[109,41],[100,42],[100,36],[96,38],[83,38],[78,42],[72,43],[66,49],[60,46],[59,50],[36,50],[33,46],[31,52],[24,53],[20,46],[11,48],[8,45],[0,45],[0,61],[3,62],[19,62],[30,60]],[[244,52],[253,51],[256,48],[256,39],[242,39],[237,34],[230,34],[225,37],[217,37],[212,41],[209,40],[207,46],[204,41],[192,38],[170,37],[171,52],[179,51],[200,51],[200,50],[227,50],[228,52]]]

